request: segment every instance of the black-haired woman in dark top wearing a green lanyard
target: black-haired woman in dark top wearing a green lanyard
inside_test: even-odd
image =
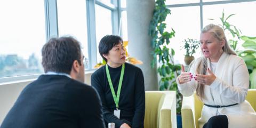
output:
[[[141,128],[145,116],[144,77],[140,68],[125,63],[123,40],[106,35],[99,43],[99,52],[107,65],[91,76],[91,85],[98,91],[106,124],[116,127]]]

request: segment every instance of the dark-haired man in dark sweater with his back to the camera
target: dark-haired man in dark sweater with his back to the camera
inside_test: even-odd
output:
[[[4,127],[105,127],[97,92],[84,84],[84,55],[73,37],[52,38],[42,49],[46,74],[23,89]]]

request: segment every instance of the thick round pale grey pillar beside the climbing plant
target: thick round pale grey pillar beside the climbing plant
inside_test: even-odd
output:
[[[153,51],[151,37],[148,35],[149,23],[153,17],[154,0],[127,0],[127,29],[129,40],[129,54],[143,61],[137,65],[143,71],[145,90],[158,90],[156,68],[151,68]]]

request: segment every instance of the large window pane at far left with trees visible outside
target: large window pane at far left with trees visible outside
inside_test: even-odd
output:
[[[0,77],[43,73],[44,1],[0,1],[0,17]]]

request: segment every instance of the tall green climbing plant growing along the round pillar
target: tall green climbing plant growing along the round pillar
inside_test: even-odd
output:
[[[173,29],[170,32],[165,30],[165,19],[168,14],[171,14],[171,11],[167,9],[165,0],[157,0],[149,26],[149,35],[152,37],[151,45],[154,49],[152,52],[154,59],[151,62],[151,67],[154,67],[156,62],[159,63],[157,66],[157,73],[161,78],[159,90],[174,90],[177,92],[177,114],[180,114],[182,97],[175,82],[180,74],[180,65],[174,63],[175,51],[168,46],[170,38],[175,36]]]

